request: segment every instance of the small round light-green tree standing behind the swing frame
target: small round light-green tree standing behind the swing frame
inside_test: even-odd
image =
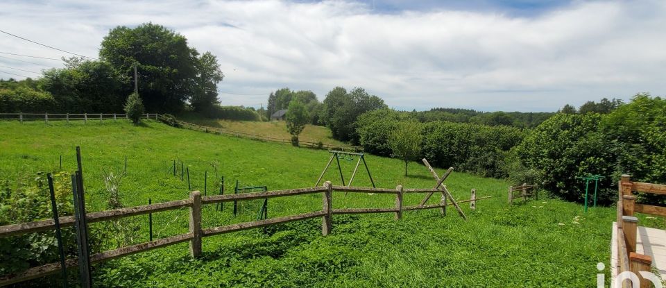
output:
[[[403,122],[392,133],[389,140],[392,155],[404,161],[404,176],[407,176],[407,164],[418,158],[421,153],[421,127],[417,122]]]

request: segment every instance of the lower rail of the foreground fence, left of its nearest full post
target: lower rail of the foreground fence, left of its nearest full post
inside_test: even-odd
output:
[[[144,251],[153,250],[155,248],[161,248],[164,246],[178,244],[181,242],[188,241],[189,239],[191,239],[191,237],[193,237],[191,233],[182,234],[163,239],[157,239],[153,242],[146,242],[133,246],[118,248],[111,251],[105,251],[103,253],[97,253],[92,255],[90,257],[90,262],[108,261],[126,255],[132,255]],[[67,266],[67,268],[75,267],[78,265],[78,261],[76,259],[67,259],[65,261],[65,265]],[[58,273],[58,271],[60,271],[60,263],[50,263],[42,266],[33,267],[30,269],[26,269],[25,271],[22,271],[20,273],[14,274],[12,276],[0,277],[0,286],[10,285],[17,282],[40,278],[43,276],[49,276],[54,273]]]

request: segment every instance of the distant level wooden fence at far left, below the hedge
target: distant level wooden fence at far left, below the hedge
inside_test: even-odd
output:
[[[83,120],[86,121],[102,121],[127,119],[126,114],[120,113],[0,113],[0,120],[16,120],[16,121],[70,121],[70,120]],[[144,119],[157,119],[157,114],[144,114]]]

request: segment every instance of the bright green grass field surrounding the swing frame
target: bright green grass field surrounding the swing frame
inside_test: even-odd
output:
[[[273,124],[267,124],[273,125]],[[0,178],[20,183],[36,171],[76,169],[75,147],[83,151],[83,170],[89,212],[105,206],[102,169],[121,171],[126,206],[187,198],[187,181],[170,175],[173,160],[189,167],[192,189],[216,191],[214,167],[225,176],[226,193],[241,185],[269,189],[310,187],[326,164],[326,151],[298,149],[287,144],[199,133],[147,121],[132,126],[124,121],[103,124],[0,122]],[[367,156],[378,187],[432,187],[434,180],[420,164],[409,165],[403,176],[399,160]],[[355,162],[341,161],[345,177]],[[442,173],[442,169],[437,169]],[[339,184],[330,169],[325,180]],[[436,210],[333,217],[332,235],[321,237],[321,220],[311,219],[261,230],[246,230],[203,239],[203,257],[189,258],[187,244],[160,248],[96,264],[99,287],[595,287],[597,262],[608,265],[612,207],[593,208],[543,198],[507,205],[502,180],[454,172],[445,182],[454,197],[493,196],[446,217]],[[355,185],[369,186],[364,173]],[[216,192],[215,192],[216,193]],[[407,195],[405,205],[422,196]],[[438,197],[433,197],[438,198]],[[437,200],[433,199],[432,202]],[[255,205],[255,206],[252,206]],[[244,206],[239,217],[205,207],[203,227],[250,221],[258,203]],[[393,196],[336,193],[334,208],[390,207]],[[269,217],[321,210],[321,195],[271,199]],[[139,231],[148,239],[147,217]],[[155,237],[187,231],[187,210],[153,215]],[[648,220],[649,221],[649,220]],[[644,222],[643,222],[644,223]],[[608,269],[604,271],[607,275]]]

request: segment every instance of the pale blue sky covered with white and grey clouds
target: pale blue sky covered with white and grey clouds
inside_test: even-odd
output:
[[[541,112],[666,95],[662,0],[0,1],[0,30],[90,57],[110,29],[146,22],[217,56],[223,105],[258,108],[281,87],[320,101],[363,87],[400,110]],[[5,79],[63,67],[7,53],[71,56],[0,33]]]

